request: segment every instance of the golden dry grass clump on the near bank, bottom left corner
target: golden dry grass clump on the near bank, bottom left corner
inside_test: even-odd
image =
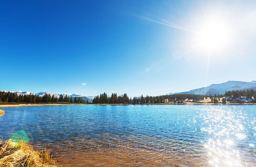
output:
[[[34,151],[24,140],[0,140],[0,167],[58,167],[46,150]]]

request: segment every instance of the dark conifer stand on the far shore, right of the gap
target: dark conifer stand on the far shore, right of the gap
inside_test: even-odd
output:
[[[249,89],[247,91],[226,91],[225,94],[220,94],[214,96],[212,95],[196,95],[196,94],[172,94],[172,95],[162,95],[162,96],[143,96],[129,98],[127,94],[122,94],[121,96],[117,96],[116,93],[112,93],[111,96],[107,96],[104,92],[100,94],[100,96],[96,96],[92,103],[94,104],[157,104],[168,102],[184,102],[185,99],[193,99],[193,100],[204,100],[204,98],[210,98],[211,102],[218,103],[220,102],[220,98],[222,97],[233,96],[234,98],[238,98],[240,96],[246,96],[247,98],[256,97],[256,90]],[[225,104],[225,100],[222,98],[223,104]],[[255,102],[255,101],[254,101]]]

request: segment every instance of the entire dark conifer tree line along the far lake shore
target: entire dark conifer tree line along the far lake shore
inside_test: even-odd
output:
[[[224,95],[214,95],[209,96],[211,102],[218,103],[220,98],[222,97],[233,97],[238,98],[241,96],[246,96],[246,98],[254,97],[256,98],[256,90],[248,89],[248,90],[236,90],[236,91],[226,91]],[[127,94],[122,94],[117,96],[116,93],[112,93],[111,96],[107,96],[104,92],[100,94],[100,96],[96,96],[92,103],[94,104],[158,104],[164,103],[166,100],[168,102],[184,102],[185,99],[193,99],[193,100],[203,100],[204,98],[208,98],[207,95],[195,95],[195,94],[172,94],[172,95],[162,95],[162,96],[143,96],[129,98]],[[217,100],[218,99],[218,100]],[[45,94],[45,96],[36,96],[34,94],[29,95],[18,95],[16,92],[5,92],[0,91],[0,102],[20,102],[20,103],[89,103],[85,102],[81,98],[74,98],[72,100],[71,97],[65,95],[61,95],[59,98],[51,96],[50,94]],[[254,99],[254,102],[255,99]]]

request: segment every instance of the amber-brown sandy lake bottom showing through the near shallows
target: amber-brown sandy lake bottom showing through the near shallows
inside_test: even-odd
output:
[[[152,138],[143,144],[144,141],[134,140],[132,136],[129,141],[120,137],[116,140],[117,137],[106,134],[104,141],[81,139],[48,147],[63,167],[205,167],[208,164],[206,154],[196,151],[195,144],[191,147],[188,143],[169,140],[165,142],[171,142],[173,147],[166,147],[166,143],[155,144]]]

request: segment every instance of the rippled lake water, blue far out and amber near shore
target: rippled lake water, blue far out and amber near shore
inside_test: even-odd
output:
[[[26,136],[63,167],[256,167],[256,105],[2,109],[3,140]]]

